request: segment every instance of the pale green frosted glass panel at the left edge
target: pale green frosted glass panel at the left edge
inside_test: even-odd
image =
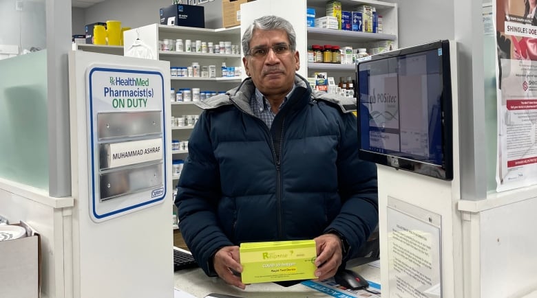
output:
[[[48,191],[46,50],[0,60],[0,177]]]

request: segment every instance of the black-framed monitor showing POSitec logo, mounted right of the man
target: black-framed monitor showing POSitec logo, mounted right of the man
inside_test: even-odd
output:
[[[453,179],[449,41],[358,62],[357,94],[361,159]]]

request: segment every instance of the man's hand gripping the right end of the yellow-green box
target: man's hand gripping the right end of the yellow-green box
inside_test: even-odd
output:
[[[328,233],[314,240],[317,247],[317,259],[315,260],[317,270],[315,271],[315,276],[319,280],[333,277],[343,258],[341,239],[335,234]]]

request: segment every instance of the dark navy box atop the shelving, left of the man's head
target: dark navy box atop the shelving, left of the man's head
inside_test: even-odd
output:
[[[204,7],[200,5],[172,4],[160,8],[160,25],[205,27]]]

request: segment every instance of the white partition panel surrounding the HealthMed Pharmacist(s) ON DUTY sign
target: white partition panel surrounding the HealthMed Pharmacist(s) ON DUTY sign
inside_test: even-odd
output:
[[[95,170],[94,165],[96,163],[92,163],[90,157],[99,156],[99,154],[103,153],[101,150],[99,150],[100,152],[95,152],[92,149],[94,147],[89,146],[92,140],[92,129],[88,125],[90,123],[88,120],[89,117],[93,117],[93,114],[88,111],[89,107],[92,106],[88,104],[88,101],[95,100],[96,103],[102,105],[106,100],[112,99],[105,98],[102,93],[101,97],[96,96],[95,98],[89,95],[89,91],[94,91],[94,94],[97,95],[99,91],[106,90],[109,87],[98,89],[98,87],[92,86],[90,88],[87,81],[88,70],[93,71],[96,63],[98,63],[99,67],[107,65],[108,67],[114,67],[114,69],[123,69],[125,70],[124,73],[131,73],[129,72],[131,70],[138,71],[138,73],[143,71],[159,72],[161,73],[161,79],[157,80],[158,84],[156,85],[151,81],[148,83],[145,82],[145,79],[141,79],[143,75],[136,76],[136,78],[133,75],[132,80],[123,80],[117,74],[109,78],[109,84],[112,86],[111,88],[123,90],[125,88],[122,87],[125,87],[125,84],[140,81],[137,86],[143,87],[138,87],[139,89],[145,89],[147,86],[150,87],[149,89],[155,87],[155,93],[151,94],[156,94],[157,96],[143,95],[142,93],[132,96],[137,96],[137,98],[144,97],[147,101],[165,101],[167,103],[169,102],[169,93],[164,91],[170,89],[169,62],[84,51],[72,51],[69,58],[72,194],[75,200],[72,215],[72,276],[74,284],[72,297],[171,298],[173,297],[171,192],[164,191],[162,203],[145,205],[143,208],[139,208],[143,203],[138,204],[134,206],[136,209],[121,212],[118,216],[109,217],[108,220],[94,220],[90,213],[93,210],[93,203],[114,205],[115,202],[118,204],[118,211],[126,210],[119,207],[123,206],[121,204],[125,203],[125,198],[127,196],[130,198],[132,194],[125,193],[127,194],[125,196],[120,194],[117,198],[109,198],[98,202],[95,201],[98,196],[92,196],[92,190],[98,190],[98,187],[101,187],[102,191],[103,187],[107,187],[107,183],[94,183],[93,179],[93,176],[98,175],[99,171],[103,172],[103,168]],[[90,80],[89,82],[93,81]],[[120,83],[116,84],[117,82]],[[161,96],[159,97],[158,95]],[[126,95],[114,96],[121,100]],[[127,101],[128,98],[125,100]],[[133,109],[133,111],[123,111],[120,108],[117,112],[136,113],[139,111],[141,111],[140,108]],[[169,113],[169,104],[163,104],[162,119],[166,119]],[[119,126],[120,128],[134,128],[134,120],[135,118],[127,122],[122,121]],[[111,124],[110,128],[116,127],[116,123],[113,121],[109,123]],[[158,124],[158,121],[154,122],[155,124]],[[108,126],[105,125],[105,127]],[[165,157],[162,165],[169,170],[171,168],[171,152],[169,150],[171,142],[168,141],[170,139],[170,130],[163,129],[162,131],[164,134],[163,139],[165,139]],[[100,134],[100,136],[102,135]],[[136,139],[134,134],[125,136],[127,139],[122,135],[122,138],[125,139],[125,144],[129,141],[133,143],[134,139]],[[103,140],[100,138],[98,140],[114,143],[114,139],[105,138]],[[139,163],[138,165],[141,167],[147,165],[147,162]],[[123,169],[125,167],[118,168]],[[163,185],[170,185],[171,175],[165,175],[162,183]],[[110,184],[113,186],[113,182],[110,182]],[[134,194],[145,196],[144,192],[138,190]],[[159,193],[158,196],[160,198],[162,193]],[[93,200],[92,197],[94,197]]]

